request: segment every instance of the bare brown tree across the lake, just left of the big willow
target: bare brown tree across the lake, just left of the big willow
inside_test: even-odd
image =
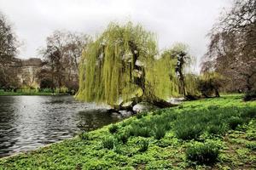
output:
[[[78,88],[79,59],[89,41],[90,37],[82,33],[54,31],[46,39],[46,48],[40,51],[45,65],[39,77],[51,81],[52,88]]]

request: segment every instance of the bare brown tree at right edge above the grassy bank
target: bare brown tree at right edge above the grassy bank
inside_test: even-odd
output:
[[[256,1],[235,0],[210,33],[202,71],[226,78],[226,90],[256,88]]]

